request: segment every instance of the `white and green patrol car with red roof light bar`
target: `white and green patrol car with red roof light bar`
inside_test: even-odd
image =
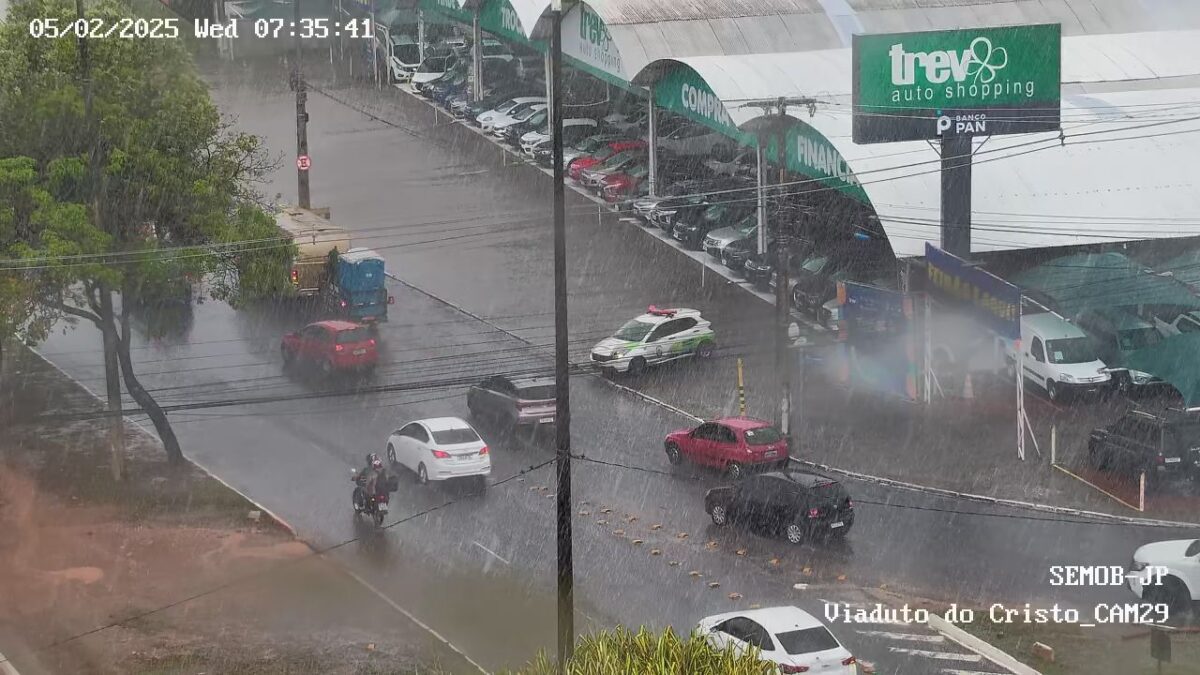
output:
[[[650,364],[708,358],[715,346],[712,324],[698,310],[650,305],[646,313],[592,347],[592,363],[606,372],[638,375]]]

